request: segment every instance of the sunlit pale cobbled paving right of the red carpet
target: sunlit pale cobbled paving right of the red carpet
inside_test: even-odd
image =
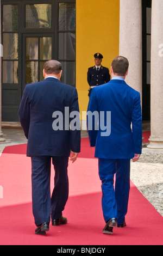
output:
[[[163,217],[163,150],[142,149],[140,159],[131,162],[131,181]]]

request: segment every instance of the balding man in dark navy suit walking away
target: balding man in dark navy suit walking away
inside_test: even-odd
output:
[[[27,156],[32,159],[33,215],[35,234],[46,234],[52,225],[66,224],[62,211],[68,199],[68,157],[76,161],[80,152],[80,127],[71,126],[79,105],[76,88],[60,82],[61,64],[57,60],[45,63],[45,80],[27,84],[19,108],[20,122],[28,139]],[[51,160],[55,169],[51,197]]]

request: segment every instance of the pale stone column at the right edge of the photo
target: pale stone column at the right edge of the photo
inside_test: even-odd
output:
[[[148,148],[163,149],[163,1],[152,1],[151,137]]]

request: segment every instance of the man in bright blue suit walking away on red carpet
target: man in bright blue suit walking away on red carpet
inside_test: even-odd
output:
[[[111,64],[112,80],[92,89],[87,108],[90,145],[95,147],[102,181],[104,234],[112,234],[116,225],[126,226],[130,160],[137,161],[142,150],[140,93],[124,81],[128,67],[125,57],[116,57]]]

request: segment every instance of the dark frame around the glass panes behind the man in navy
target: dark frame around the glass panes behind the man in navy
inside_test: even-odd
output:
[[[26,28],[26,4],[52,4],[52,27],[51,28]],[[76,3],[76,0],[1,0],[1,24],[3,26],[3,5],[8,4],[18,4],[18,83],[2,83],[2,97],[5,94],[4,105],[2,104],[2,120],[3,121],[18,121],[18,106],[20,105],[21,97],[23,94],[24,87],[26,83],[24,83],[24,77],[26,77],[26,66],[24,66],[24,61],[26,58],[24,57],[24,52],[26,51],[26,45],[24,44],[23,37],[25,35],[40,35],[40,36],[51,36],[52,38],[52,59],[57,59],[62,61],[62,59],[58,59],[58,48],[59,48],[59,3]],[[54,11],[55,10],[55,11]],[[3,27],[2,29],[2,45],[3,45]],[[67,31],[64,31],[67,32]],[[71,31],[72,32],[72,31]],[[76,32],[76,30],[74,31]],[[6,32],[9,33],[9,32]],[[14,33],[14,31],[12,32]],[[76,39],[75,39],[76,40]],[[55,47],[54,47],[55,44]],[[3,59],[2,59],[3,60]],[[17,61],[17,60],[15,60]],[[74,62],[74,84],[72,86],[76,86],[76,47],[75,47],[75,59],[74,60],[63,60],[64,62]],[[63,70],[64,72],[64,70]],[[1,70],[2,73],[2,70]],[[39,75],[39,74],[38,74]],[[2,77],[3,78],[3,77]],[[65,81],[66,82],[66,81]],[[67,83],[67,82],[66,82]],[[16,95],[12,98],[12,93]],[[9,96],[7,96],[9,95]],[[13,104],[10,103],[14,102]],[[3,99],[2,99],[3,102]]]

